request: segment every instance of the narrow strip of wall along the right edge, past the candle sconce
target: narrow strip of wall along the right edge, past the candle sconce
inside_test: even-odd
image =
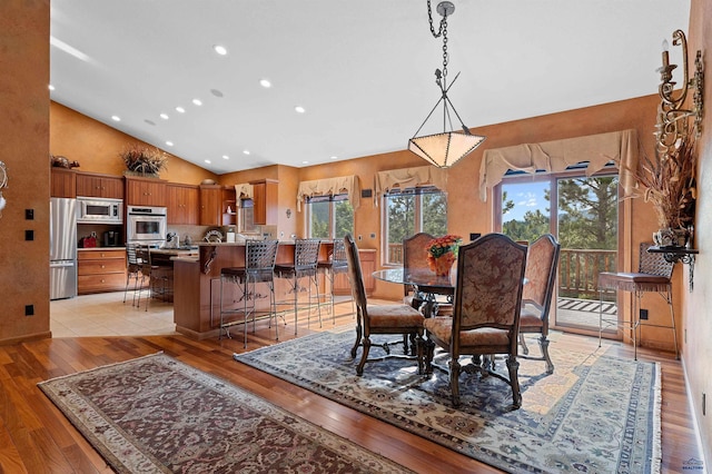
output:
[[[706,66],[704,83],[705,117],[698,142],[700,168],[695,247],[700,255],[694,265],[694,289],[682,292],[683,332],[686,334],[683,363],[690,398],[700,427],[708,471],[712,470],[712,2],[692,0],[690,10],[689,55],[702,50]],[[686,268],[685,268],[686,270]],[[685,275],[686,287],[686,275]],[[706,394],[706,415],[702,415],[702,394]]]

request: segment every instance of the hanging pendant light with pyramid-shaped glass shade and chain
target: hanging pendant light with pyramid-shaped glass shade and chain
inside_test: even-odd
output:
[[[437,12],[443,17],[443,19],[441,20],[439,30],[435,32],[435,28],[433,27],[431,0],[427,0],[427,17],[431,23],[431,33],[433,33],[433,38],[443,38],[443,69],[435,70],[435,83],[441,89],[441,97],[413,138],[408,140],[408,149],[411,151],[438,168],[449,168],[457,160],[471,154],[485,140],[485,137],[472,135],[469,132],[469,129],[465,124],[463,124],[463,120],[459,118],[457,110],[455,110],[453,102],[451,102],[447,97],[449,88],[455,83],[459,76],[458,72],[457,76],[455,76],[455,79],[453,79],[449,85],[447,83],[447,63],[449,60],[447,53],[447,17],[453,14],[454,11],[455,6],[449,1],[442,1],[437,4]],[[428,121],[441,103],[443,105],[443,132],[418,137],[417,135],[423,129],[423,126]],[[459,120],[462,130],[453,130],[451,111],[455,117],[457,117],[457,120]],[[447,131],[447,126],[449,126],[451,131]]]

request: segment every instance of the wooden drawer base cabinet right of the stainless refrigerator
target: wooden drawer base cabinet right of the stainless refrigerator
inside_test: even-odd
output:
[[[77,293],[119,292],[126,288],[126,249],[92,248],[77,251]]]

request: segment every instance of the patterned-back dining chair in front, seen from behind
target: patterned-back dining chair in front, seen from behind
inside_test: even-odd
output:
[[[459,406],[461,372],[476,371],[506,382],[512,387],[515,408],[522,405],[517,372],[517,339],[522,310],[522,287],[526,247],[503,234],[487,234],[459,247],[457,286],[453,317],[425,319],[427,330],[426,373],[433,372],[435,346],[449,355],[449,385],[453,405]],[[474,365],[488,355],[504,354],[508,378],[487,364]],[[472,355],[463,367],[461,356]]]

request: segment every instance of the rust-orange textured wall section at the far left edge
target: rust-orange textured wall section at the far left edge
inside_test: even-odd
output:
[[[0,2],[0,342],[49,335],[49,0]],[[34,219],[26,220],[26,209]],[[24,239],[26,230],[34,240]],[[34,315],[26,316],[26,306]]]

